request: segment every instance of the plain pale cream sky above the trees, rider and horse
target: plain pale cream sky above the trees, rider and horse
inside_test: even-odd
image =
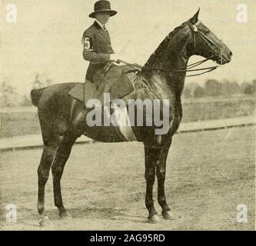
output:
[[[5,21],[5,8],[15,4],[17,22]],[[1,68],[20,94],[28,94],[37,72],[55,83],[83,82],[88,62],[82,57],[81,35],[94,21],[95,0],[2,0]],[[248,22],[238,23],[237,6],[248,7]],[[211,74],[187,78],[251,81],[256,78],[255,0],[111,0],[118,11],[108,22],[111,43],[119,58],[144,65],[175,27],[199,18],[231,48],[233,60]],[[125,47],[125,48],[124,48]],[[200,57],[191,58],[195,62]],[[213,64],[209,62],[209,64]]]

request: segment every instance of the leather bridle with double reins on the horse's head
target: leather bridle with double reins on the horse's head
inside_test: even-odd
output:
[[[222,53],[221,48],[214,44],[214,42],[211,41],[211,39],[209,39],[207,36],[205,36],[200,30],[198,30],[198,25],[201,23],[201,21],[198,20],[197,23],[195,23],[194,25],[191,24],[190,21],[186,22],[188,24],[188,26],[191,28],[192,31],[192,35],[193,35],[193,40],[194,40],[194,52],[196,53],[196,40],[195,40],[195,34],[198,34],[199,37],[201,37],[201,39],[211,48],[212,51],[214,51],[214,48],[217,48],[218,52]],[[167,37],[169,38],[169,37]],[[221,44],[222,41],[219,42],[219,44]],[[198,75],[204,75],[208,72],[214,71],[216,68],[220,67],[221,65],[215,65],[215,66],[211,66],[208,68],[196,68],[196,69],[192,69],[195,67],[198,67],[198,65],[203,64],[204,62],[207,62],[208,60],[210,60],[211,58],[213,58],[215,56],[215,52],[214,55],[211,55],[210,58],[206,58],[204,60],[201,60],[199,62],[194,62],[190,65],[188,65],[186,68],[178,68],[178,69],[172,69],[172,68],[143,68],[144,70],[156,70],[156,71],[165,71],[166,73],[173,73],[173,72],[191,72],[191,71],[203,71],[200,72],[198,74],[195,75],[186,75],[187,77],[194,77],[194,76],[198,76]],[[222,58],[222,55],[221,55]]]

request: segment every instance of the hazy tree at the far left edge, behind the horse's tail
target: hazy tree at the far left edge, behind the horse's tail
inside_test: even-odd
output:
[[[2,107],[13,107],[17,105],[17,92],[8,79],[1,82],[1,105]]]

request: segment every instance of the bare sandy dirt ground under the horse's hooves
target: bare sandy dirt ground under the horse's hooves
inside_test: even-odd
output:
[[[63,200],[73,219],[58,219],[52,176],[45,191],[48,217],[55,230],[254,230],[254,132],[248,127],[175,135],[165,189],[176,218],[159,224],[146,221],[141,144],[75,145],[62,178]],[[36,211],[41,154],[42,149],[2,154],[2,230],[45,230]],[[16,204],[16,223],[5,221],[6,204]],[[236,221],[238,204],[248,208],[247,223]],[[156,192],[155,208],[160,214]]]

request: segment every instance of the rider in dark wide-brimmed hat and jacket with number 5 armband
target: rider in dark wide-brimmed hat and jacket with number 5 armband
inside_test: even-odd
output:
[[[105,28],[109,18],[116,14],[115,10],[111,10],[110,2],[100,0],[95,3],[95,11],[89,15],[91,18],[95,18],[95,22],[84,32],[82,37],[83,56],[85,61],[90,62],[86,73],[86,81],[93,83],[95,72],[104,68],[107,62],[118,60],[111,47],[108,30]]]

